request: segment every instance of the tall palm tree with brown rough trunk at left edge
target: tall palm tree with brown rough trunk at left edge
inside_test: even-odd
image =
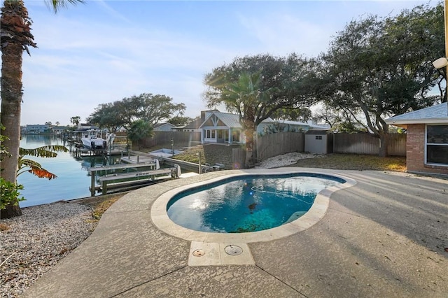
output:
[[[66,3],[83,0],[52,0],[50,4],[55,12]],[[22,0],[5,0],[1,8],[0,48],[1,48],[1,120],[5,127],[3,146],[9,152],[1,162],[0,176],[10,183],[17,183],[19,147],[20,147],[20,111],[22,104],[22,53],[29,54],[29,47],[36,48],[31,34],[31,19]],[[14,206],[12,212],[20,215],[20,207]]]

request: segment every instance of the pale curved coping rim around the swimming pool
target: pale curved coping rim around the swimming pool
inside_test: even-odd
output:
[[[173,222],[167,215],[167,204],[174,195],[179,192],[190,190],[194,187],[200,187],[202,185],[207,185],[210,183],[215,183],[227,178],[246,176],[248,174],[262,175],[262,174],[294,174],[294,173],[311,173],[313,175],[321,174],[323,176],[334,176],[337,178],[342,178],[346,183],[341,183],[332,187],[325,188],[318,192],[316,199],[314,199],[314,204],[311,206],[309,211],[302,215],[297,220],[288,222],[279,227],[274,227],[272,229],[266,229],[258,232],[246,232],[246,233],[214,233],[214,232],[200,232],[193,229],[187,229]],[[319,171],[300,171],[291,168],[277,168],[277,169],[251,169],[244,170],[239,173],[230,173],[225,176],[220,176],[217,178],[211,178],[209,180],[204,180],[197,183],[192,183],[190,185],[183,185],[176,187],[172,190],[165,192],[156,199],[151,206],[151,219],[155,227],[162,230],[163,232],[187,241],[193,241],[194,243],[239,243],[244,245],[246,243],[261,242],[261,241],[272,241],[276,239],[281,239],[298,232],[302,232],[305,229],[309,229],[315,225],[319,220],[323,218],[328,210],[330,204],[330,196],[333,192],[337,190],[342,190],[347,187],[356,185],[356,180],[348,178],[346,176],[341,176],[335,173],[323,173]]]

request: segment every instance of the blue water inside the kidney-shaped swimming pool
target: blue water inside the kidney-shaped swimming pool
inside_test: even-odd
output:
[[[256,232],[300,218],[318,192],[344,182],[312,173],[239,176],[176,194],[167,213],[176,224],[197,231]]]

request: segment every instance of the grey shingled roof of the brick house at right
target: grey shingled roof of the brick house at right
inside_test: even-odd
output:
[[[448,123],[448,104],[444,102],[421,110],[396,115],[384,121],[388,125],[402,127],[406,127],[408,124]]]

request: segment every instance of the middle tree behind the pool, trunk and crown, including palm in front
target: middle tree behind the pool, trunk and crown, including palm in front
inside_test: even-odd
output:
[[[312,62],[297,55],[237,57],[207,73],[203,97],[209,108],[224,104],[237,113],[246,136],[246,166],[257,158],[253,134],[279,109],[297,109],[316,102],[312,97]]]

